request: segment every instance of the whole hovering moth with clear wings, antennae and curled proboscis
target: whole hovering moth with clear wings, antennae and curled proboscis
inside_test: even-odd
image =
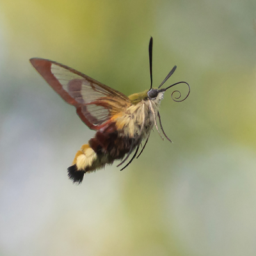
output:
[[[84,124],[96,131],[94,138],[77,151],[72,166],[68,168],[68,177],[74,183],[80,184],[84,173],[103,168],[106,164],[113,164],[115,160],[122,160],[118,166],[124,164],[135,150],[131,160],[121,169],[124,170],[137,156],[141,143],[145,140],[137,158],[141,155],[154,125],[159,132],[157,117],[163,135],[171,141],[161,124],[160,102],[164,92],[172,86],[180,83],[187,84],[188,95],[190,87],[188,83],[182,81],[161,88],[175,71],[176,66],[174,66],[158,88],[152,88],[152,47],[153,38],[151,37],[148,47],[150,88],[129,97],[58,62],[42,58],[30,59],[33,67],[52,89],[68,104],[76,107],[77,115]],[[180,94],[179,97],[173,98],[173,93],[172,99],[175,101],[183,101],[188,97],[186,95],[183,100],[179,100]]]

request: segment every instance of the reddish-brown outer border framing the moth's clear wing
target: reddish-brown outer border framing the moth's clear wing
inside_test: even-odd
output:
[[[102,84],[102,83],[96,81],[95,79],[92,79],[91,77],[88,77],[88,76],[84,75],[83,73],[78,72],[77,70],[74,70],[73,68],[62,65],[62,64],[60,64],[56,61],[45,60],[45,59],[42,59],[42,58],[32,58],[32,59],[30,59],[30,62],[33,65],[33,67],[35,67],[35,69],[38,71],[38,73],[45,79],[45,81],[47,81],[47,83],[52,87],[52,89],[61,96],[61,98],[63,100],[65,100],[68,104],[73,105],[73,106],[76,107],[77,115],[79,115],[79,117],[84,122],[84,124],[86,124],[90,129],[99,130],[100,128],[106,126],[106,124],[108,124],[108,121],[105,122],[102,125],[93,125],[83,115],[82,108],[81,108],[83,105],[81,103],[77,102],[76,99],[72,98],[63,89],[63,86],[61,85],[61,83],[58,81],[58,79],[56,79],[56,77],[51,72],[51,65],[52,64],[63,67],[65,69],[69,70],[70,72],[72,72],[74,74],[77,74],[78,76],[83,77],[84,79],[90,81],[91,83],[97,84],[97,86],[100,86],[101,88],[104,88],[104,90],[109,92],[111,95],[115,95],[119,99],[121,98],[122,100],[124,100],[124,102],[130,102],[129,98],[126,95],[124,95],[123,93],[120,93],[120,92],[106,86],[105,84]]]

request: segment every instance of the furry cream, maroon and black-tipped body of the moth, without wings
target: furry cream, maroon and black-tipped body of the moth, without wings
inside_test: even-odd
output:
[[[97,131],[95,137],[77,152],[72,166],[68,168],[70,179],[80,183],[84,173],[123,159],[125,154],[131,154],[138,148],[152,131],[163,94],[158,93],[155,99],[148,99],[147,92],[129,96],[131,106],[114,115],[111,122]]]

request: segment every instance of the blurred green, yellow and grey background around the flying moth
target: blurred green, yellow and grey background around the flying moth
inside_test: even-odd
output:
[[[0,255],[256,255],[256,1],[0,1]],[[120,172],[67,167],[90,131],[29,58],[130,95],[167,91],[163,127]]]

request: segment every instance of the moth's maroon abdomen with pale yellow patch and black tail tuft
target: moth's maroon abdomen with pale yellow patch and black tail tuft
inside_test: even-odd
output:
[[[106,164],[112,164],[116,159],[122,159],[131,147],[135,148],[133,140],[120,136],[114,122],[109,124],[77,151],[73,165],[68,168],[68,177],[74,183],[80,184],[84,173],[93,172]]]

